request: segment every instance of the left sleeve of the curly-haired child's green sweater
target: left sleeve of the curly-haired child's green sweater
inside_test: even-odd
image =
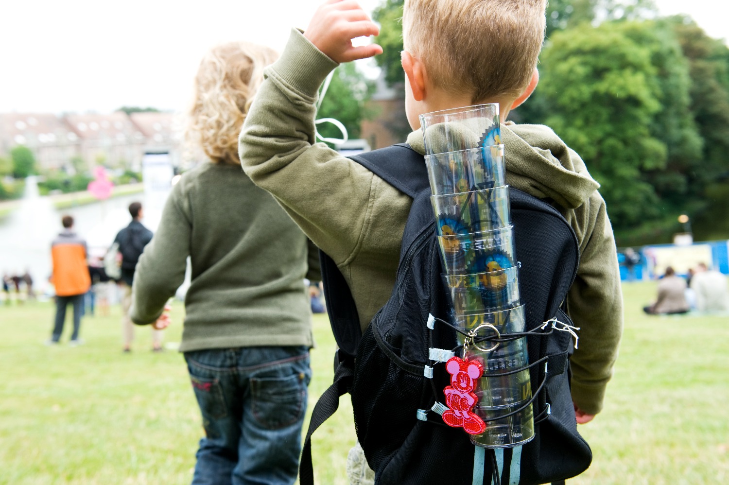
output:
[[[184,282],[190,255],[192,221],[184,210],[184,177],[173,187],[152,241],[144,247],[134,271],[130,317],[137,325],[154,323],[167,300]]]

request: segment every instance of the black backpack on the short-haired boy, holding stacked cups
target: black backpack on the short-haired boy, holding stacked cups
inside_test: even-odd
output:
[[[535,436],[518,449],[486,450],[486,458],[482,455],[483,461],[477,461],[464,430],[448,427],[434,411],[425,415],[427,421],[421,420],[423,411],[418,418],[418,410],[445,403],[443,388],[449,383],[443,364],[429,360],[429,349],[459,346],[453,328],[440,322],[432,330],[426,326],[429,314],[448,319],[448,300],[424,159],[407,144],[351,158],[410,195],[413,205],[396,284],[364,335],[344,277],[330,257],[320,254],[327,309],[340,349],[334,384],[311,416],[300,484],[313,484],[311,434],[334,414],[345,392],[351,394],[356,435],[375,470],[375,484],[481,483],[474,477],[480,477],[482,462],[483,484],[545,484],[582,473],[592,454],[577,432],[569,391],[572,335],[544,326],[550,319],[572,325],[564,306],[577,273],[579,249],[564,217],[546,201],[510,187],[519,290],[526,305],[526,330],[531,330]],[[425,365],[434,368],[432,379],[424,376]]]

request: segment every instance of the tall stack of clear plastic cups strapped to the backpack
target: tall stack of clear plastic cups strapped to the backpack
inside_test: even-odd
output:
[[[420,116],[444,279],[453,323],[474,332],[468,359],[483,376],[473,408],[486,431],[471,441],[507,448],[534,438],[518,263],[500,144],[499,105],[483,104]],[[502,338],[502,335],[504,338]],[[504,341],[483,341],[482,338]],[[459,334],[459,344],[464,344]]]

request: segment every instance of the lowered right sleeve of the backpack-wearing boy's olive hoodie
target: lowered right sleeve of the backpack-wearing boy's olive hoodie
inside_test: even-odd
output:
[[[572,359],[572,400],[587,414],[602,409],[607,382],[623,333],[623,294],[612,227],[602,197],[588,201],[580,267],[567,295],[572,322],[580,327]]]

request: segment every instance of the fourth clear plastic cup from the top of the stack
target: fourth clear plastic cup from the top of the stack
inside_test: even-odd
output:
[[[448,275],[486,273],[516,265],[512,226],[480,233],[438,236]]]

